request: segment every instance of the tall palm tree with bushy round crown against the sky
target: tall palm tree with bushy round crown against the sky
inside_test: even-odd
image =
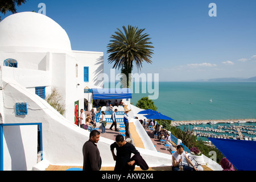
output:
[[[148,34],[143,33],[145,29],[138,27],[123,26],[124,33],[117,28],[115,35],[110,36],[112,40],[108,44],[108,63],[114,63],[113,68],[121,69],[121,73],[126,75],[125,84],[129,85],[129,73],[133,70],[133,63],[136,64],[138,70],[141,70],[143,61],[152,63],[150,60],[154,48],[150,44],[151,38]],[[121,78],[122,81],[122,78]],[[125,81],[125,80],[123,80]]]

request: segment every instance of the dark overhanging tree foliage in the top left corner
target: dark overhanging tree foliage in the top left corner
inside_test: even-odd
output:
[[[27,2],[27,0],[4,0],[0,1],[0,12],[3,14],[6,14],[8,11],[11,11],[11,13],[17,13],[16,11],[16,5],[20,6],[22,3],[24,4]],[[1,16],[0,16],[1,21]]]

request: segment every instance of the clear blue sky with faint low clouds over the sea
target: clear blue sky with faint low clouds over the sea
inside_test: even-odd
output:
[[[105,73],[113,67],[106,53],[110,36],[130,24],[145,28],[155,47],[153,63],[139,73],[159,73],[159,81],[256,76],[256,1],[27,0],[17,11],[38,12],[41,2],[73,50],[104,52]],[[210,3],[216,17],[208,14]]]

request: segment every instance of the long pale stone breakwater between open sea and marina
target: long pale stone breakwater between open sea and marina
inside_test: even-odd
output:
[[[175,124],[175,123],[183,123],[183,124],[198,123],[198,124],[205,124],[205,123],[209,123],[210,121],[216,122],[216,123],[228,123],[228,122],[238,123],[238,121],[256,122],[256,119],[216,119],[216,120],[211,119],[211,120],[193,120],[193,121],[172,121],[172,124]]]

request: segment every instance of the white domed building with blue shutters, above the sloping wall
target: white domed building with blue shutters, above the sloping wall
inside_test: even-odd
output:
[[[84,88],[102,86],[96,78],[104,72],[103,56],[103,52],[72,51],[65,30],[43,14],[17,13],[0,23],[3,77],[42,93],[43,98],[56,87],[64,98],[64,117],[69,121],[74,119],[75,102],[84,109],[84,98],[91,99],[84,96]]]

